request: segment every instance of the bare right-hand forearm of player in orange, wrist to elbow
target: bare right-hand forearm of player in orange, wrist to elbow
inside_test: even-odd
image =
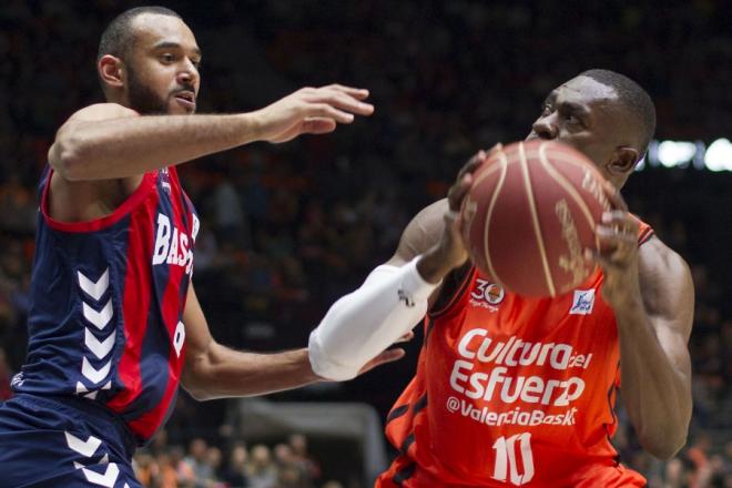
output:
[[[684,444],[691,419],[691,379],[661,346],[640,298],[616,311],[622,399],[641,445],[670,458]]]

